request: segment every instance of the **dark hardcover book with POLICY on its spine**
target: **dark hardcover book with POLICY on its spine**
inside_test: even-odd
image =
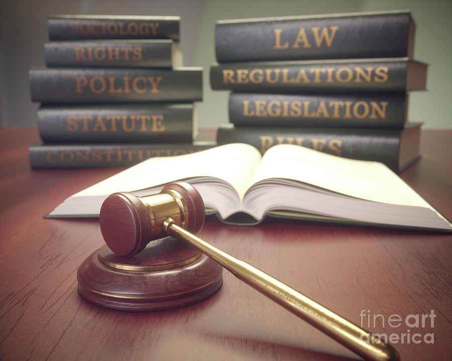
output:
[[[32,68],[32,101],[42,103],[193,102],[202,68]]]

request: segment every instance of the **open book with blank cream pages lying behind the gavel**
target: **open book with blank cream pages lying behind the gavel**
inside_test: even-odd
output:
[[[353,160],[293,144],[271,147],[264,156],[242,143],[145,160],[79,193],[48,217],[95,217],[115,192],[158,193],[186,180],[207,211],[225,220],[246,214],[452,230],[451,224],[379,162]]]

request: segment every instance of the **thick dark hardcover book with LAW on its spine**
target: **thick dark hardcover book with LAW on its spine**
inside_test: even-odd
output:
[[[409,11],[220,20],[220,62],[412,57]]]

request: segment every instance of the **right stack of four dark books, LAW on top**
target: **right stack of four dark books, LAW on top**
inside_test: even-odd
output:
[[[233,91],[218,143],[299,144],[403,170],[419,158],[407,92],[425,90],[427,73],[414,32],[409,11],[218,21],[210,83]]]

